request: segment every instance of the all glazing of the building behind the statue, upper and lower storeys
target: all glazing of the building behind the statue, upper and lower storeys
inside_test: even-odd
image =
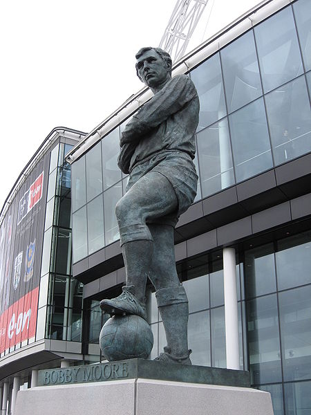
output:
[[[189,71],[200,96],[195,203],[311,151],[308,6],[307,0],[295,1]],[[127,177],[116,160],[127,121],[72,165],[74,263],[119,237],[114,210]],[[249,370],[253,387],[272,394],[274,414],[306,415],[311,413],[311,232],[274,238],[238,247],[240,367]],[[189,297],[192,362],[226,367],[222,253],[183,261],[178,275]],[[121,285],[113,287],[113,295],[97,293],[86,300],[84,342],[92,350],[105,318],[99,301],[120,293]],[[153,359],[166,340],[151,287],[147,299]],[[100,361],[97,350],[94,358]]]

